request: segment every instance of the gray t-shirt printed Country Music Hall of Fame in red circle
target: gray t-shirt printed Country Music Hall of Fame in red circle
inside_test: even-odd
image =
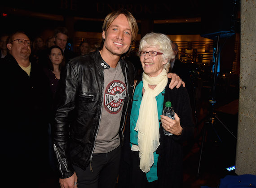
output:
[[[107,153],[120,145],[119,128],[126,96],[124,74],[120,63],[104,70],[104,98],[94,154]]]

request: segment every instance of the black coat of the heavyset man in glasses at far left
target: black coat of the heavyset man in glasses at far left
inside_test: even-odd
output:
[[[31,62],[28,76],[10,54],[1,59],[0,64],[0,81],[4,91],[1,92],[2,109],[5,119],[10,120],[9,125],[13,125],[12,131],[27,132],[31,128],[36,131],[34,124],[47,124],[52,100],[49,81],[43,70]],[[40,126],[37,128],[41,129]]]

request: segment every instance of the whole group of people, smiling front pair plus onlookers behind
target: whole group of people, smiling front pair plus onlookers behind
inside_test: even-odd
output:
[[[134,79],[125,56],[137,32],[121,9],[106,16],[99,47],[83,41],[79,55],[66,48],[63,27],[46,43],[20,31],[1,36],[7,182],[35,188],[50,166],[61,188],[115,188],[118,177],[120,187],[182,186],[182,143],[194,131],[188,93],[169,72],[175,50],[164,34],[141,39],[143,73]],[[166,101],[175,120],[162,115]]]

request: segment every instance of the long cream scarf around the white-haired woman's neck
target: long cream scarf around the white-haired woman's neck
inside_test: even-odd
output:
[[[139,156],[141,158],[140,169],[146,173],[150,171],[150,167],[154,163],[153,153],[160,145],[159,120],[155,97],[164,90],[168,83],[167,72],[163,68],[163,71],[157,77],[149,77],[143,73],[142,81],[145,93],[141,99],[139,117],[134,130],[138,132]],[[156,87],[152,90],[148,85],[156,85]]]

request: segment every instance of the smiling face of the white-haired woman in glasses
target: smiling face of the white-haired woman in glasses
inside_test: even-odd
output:
[[[159,47],[152,46],[145,47],[141,49],[141,51],[160,52]],[[162,72],[164,65],[167,63],[167,60],[163,59],[163,55],[150,56],[149,53],[146,53],[146,56],[140,56],[140,60],[144,73],[146,73],[150,77],[158,76]]]

